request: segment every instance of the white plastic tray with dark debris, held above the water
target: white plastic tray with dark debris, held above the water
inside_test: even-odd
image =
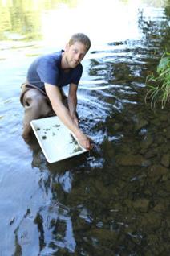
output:
[[[71,130],[56,116],[32,120],[30,125],[49,163],[87,151],[79,145]]]

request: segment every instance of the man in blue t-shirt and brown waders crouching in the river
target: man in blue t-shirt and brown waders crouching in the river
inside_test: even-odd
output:
[[[31,120],[56,114],[79,144],[91,149],[91,139],[79,129],[76,113],[77,89],[83,72],[81,61],[90,47],[87,35],[78,33],[71,36],[64,51],[40,56],[30,65],[20,98],[25,108],[23,138],[30,137]],[[62,87],[68,84],[66,97]]]

